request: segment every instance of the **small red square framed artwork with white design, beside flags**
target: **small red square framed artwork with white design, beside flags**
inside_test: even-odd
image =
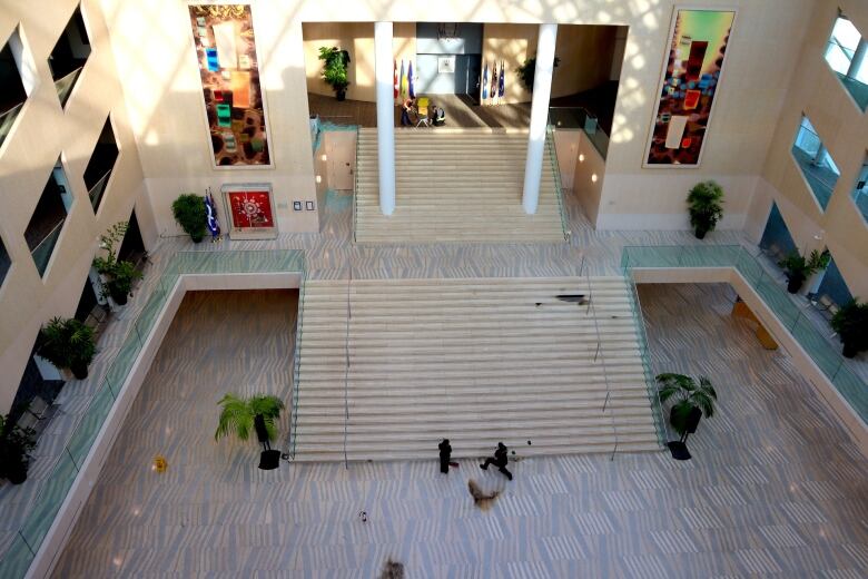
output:
[[[231,239],[274,239],[274,193],[268,184],[224,185],[223,193]]]

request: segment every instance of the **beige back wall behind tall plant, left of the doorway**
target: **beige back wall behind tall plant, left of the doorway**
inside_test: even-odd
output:
[[[374,78],[374,23],[373,22],[305,22],[304,53],[307,90],[315,95],[334,97],[335,91],[322,79],[323,61],[319,47],[338,47],[349,52],[349,87],[346,98],[376,101]],[[416,60],[416,24],[395,22],[393,30],[395,59],[401,66]]]

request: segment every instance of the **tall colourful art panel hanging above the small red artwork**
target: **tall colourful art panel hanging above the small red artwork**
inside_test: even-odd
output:
[[[190,6],[214,164],[270,165],[250,7]]]

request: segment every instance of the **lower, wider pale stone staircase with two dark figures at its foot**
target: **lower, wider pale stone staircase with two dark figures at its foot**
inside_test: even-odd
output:
[[[628,300],[620,277],[308,281],[295,460],[658,450]]]

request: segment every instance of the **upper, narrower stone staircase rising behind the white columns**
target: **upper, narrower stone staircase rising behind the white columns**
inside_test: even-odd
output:
[[[527,215],[522,207],[526,130],[396,130],[391,216],[379,210],[376,129],[361,129],[357,147],[358,243],[564,241],[549,143],[539,209]]]

